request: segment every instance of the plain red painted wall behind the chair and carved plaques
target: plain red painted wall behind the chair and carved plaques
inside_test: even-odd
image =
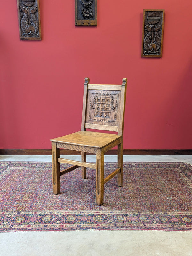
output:
[[[124,148],[191,149],[192,1],[98,0],[97,27],[75,27],[74,5],[40,0],[42,40],[21,41],[1,3],[0,147],[51,148],[80,129],[84,77],[127,77]],[[161,58],[141,58],[143,9],[165,9]]]

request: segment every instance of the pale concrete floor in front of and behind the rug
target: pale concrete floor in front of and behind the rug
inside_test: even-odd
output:
[[[80,156],[65,156],[80,160]],[[186,162],[192,156],[124,156],[131,162]],[[0,156],[0,161],[45,161],[51,156]],[[87,161],[95,161],[88,156]],[[116,162],[116,156],[105,161]],[[134,255],[134,256],[192,256],[192,232],[138,230],[82,230],[0,232],[0,256],[51,255]]]

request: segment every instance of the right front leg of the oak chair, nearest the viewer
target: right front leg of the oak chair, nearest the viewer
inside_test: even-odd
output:
[[[96,203],[103,204],[104,193],[104,150],[98,149],[96,153]]]

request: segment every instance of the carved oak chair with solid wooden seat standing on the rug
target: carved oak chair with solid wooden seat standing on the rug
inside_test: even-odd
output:
[[[60,193],[60,176],[82,167],[96,169],[96,203],[103,204],[104,184],[118,176],[118,186],[123,185],[123,126],[127,78],[122,85],[89,84],[85,78],[81,131],[51,139],[53,193]],[[86,131],[86,129],[115,131],[117,134]],[[104,178],[104,153],[118,145],[117,169]],[[60,158],[60,148],[81,151],[81,162]],[[86,162],[86,152],[96,154],[96,164]],[[60,171],[60,163],[72,164]]]

